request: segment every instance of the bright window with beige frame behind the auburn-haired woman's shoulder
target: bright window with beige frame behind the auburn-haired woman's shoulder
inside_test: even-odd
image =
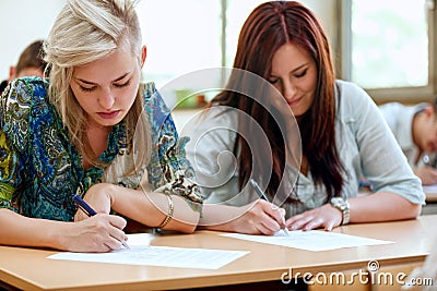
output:
[[[343,0],[342,77],[376,101],[434,95],[434,5],[427,0]]]

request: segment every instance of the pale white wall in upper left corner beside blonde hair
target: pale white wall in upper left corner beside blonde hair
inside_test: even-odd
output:
[[[46,38],[66,0],[0,0],[0,81],[8,78],[23,49]]]

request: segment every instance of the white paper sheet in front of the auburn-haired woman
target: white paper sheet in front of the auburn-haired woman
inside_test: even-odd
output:
[[[320,230],[290,231],[288,235],[283,231],[277,232],[275,235],[249,235],[240,233],[225,233],[221,235],[315,252],[342,247],[393,243],[390,241],[381,241]]]

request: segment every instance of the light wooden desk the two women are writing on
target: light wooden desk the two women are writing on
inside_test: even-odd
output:
[[[433,222],[434,221],[434,222]],[[437,216],[417,220],[351,225],[336,232],[394,241],[394,244],[309,252],[199,231],[151,235],[151,245],[248,250],[218,270],[146,267],[47,259],[55,251],[0,246],[0,281],[24,290],[169,290],[247,282],[277,281],[284,272],[330,272],[422,263],[435,248]],[[208,259],[208,258],[205,258]]]

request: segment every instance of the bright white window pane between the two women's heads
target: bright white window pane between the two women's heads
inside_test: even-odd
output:
[[[147,47],[146,81],[160,88],[186,73],[221,65],[218,0],[142,0],[137,12]]]

